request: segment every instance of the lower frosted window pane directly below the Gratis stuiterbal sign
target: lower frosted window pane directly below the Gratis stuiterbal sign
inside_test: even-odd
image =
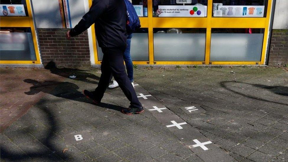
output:
[[[204,61],[205,28],[154,28],[155,61]]]

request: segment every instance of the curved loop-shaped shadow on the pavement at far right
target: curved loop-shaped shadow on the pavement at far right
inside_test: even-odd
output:
[[[266,99],[261,99],[261,98],[257,98],[255,96],[251,96],[251,95],[247,95],[247,94],[243,94],[243,93],[240,93],[240,92],[237,92],[237,91],[234,91],[232,89],[229,89],[226,84],[227,83],[235,83],[234,81],[224,81],[224,82],[221,82],[220,83],[220,86],[229,90],[229,91],[232,91],[236,94],[240,94],[242,96],[246,96],[246,97],[249,97],[251,99],[257,99],[257,100],[261,100],[261,101],[266,101],[266,102],[273,102],[273,103],[276,103],[276,104],[282,104],[282,105],[287,105],[288,104],[285,104],[285,103],[281,103],[281,102],[274,102],[274,101],[269,101],[269,100],[266,100]],[[244,83],[244,82],[237,82],[237,83],[242,83],[242,84],[249,84],[249,83]],[[255,87],[258,87],[258,88],[262,88],[262,89],[266,89],[267,91],[271,91],[275,94],[279,94],[279,95],[282,95],[282,96],[288,96],[288,87],[285,87],[285,86],[266,86],[266,85],[262,85],[262,84],[249,84],[249,85],[252,85],[252,86],[255,86]]]

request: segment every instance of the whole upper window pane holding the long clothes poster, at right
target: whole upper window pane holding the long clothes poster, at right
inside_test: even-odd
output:
[[[213,0],[214,17],[266,17],[268,0]]]

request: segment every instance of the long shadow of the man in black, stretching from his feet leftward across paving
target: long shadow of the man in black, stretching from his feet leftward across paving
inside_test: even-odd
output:
[[[87,99],[81,91],[78,91],[79,86],[74,83],[59,81],[36,81],[33,79],[24,79],[23,81],[33,85],[32,87],[30,87],[30,91],[24,92],[27,95],[34,95],[38,94],[39,92],[44,92],[56,97],[95,105],[95,103],[92,102],[91,99]],[[97,104],[97,106],[107,109],[113,109],[120,112],[124,108],[122,106],[102,102],[100,104]]]

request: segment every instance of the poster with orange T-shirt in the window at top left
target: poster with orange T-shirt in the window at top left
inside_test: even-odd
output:
[[[26,16],[23,4],[1,4],[0,16]]]

